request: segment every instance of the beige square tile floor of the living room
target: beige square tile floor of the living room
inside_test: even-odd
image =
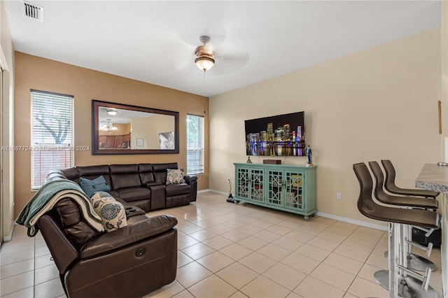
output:
[[[176,216],[179,253],[176,281],[145,298],[388,297],[373,278],[387,269],[384,231],[225,199],[200,193],[188,206],[148,213]],[[29,238],[16,225],[0,252],[0,296],[64,297],[50,257],[41,234]],[[440,268],[440,250],[430,259]],[[434,271],[439,297],[441,284]]]

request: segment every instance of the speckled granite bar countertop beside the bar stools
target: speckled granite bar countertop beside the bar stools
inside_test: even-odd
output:
[[[435,192],[448,192],[448,166],[425,164],[415,180],[415,186]]]

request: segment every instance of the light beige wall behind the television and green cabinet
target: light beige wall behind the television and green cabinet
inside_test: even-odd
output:
[[[391,159],[397,183],[413,187],[423,164],[442,158],[439,99],[440,29],[212,97],[210,189],[228,192],[229,177],[235,185],[232,163],[247,159],[244,120],[304,111],[306,141],[318,166],[318,212],[367,222],[356,208],[359,186],[352,165]]]

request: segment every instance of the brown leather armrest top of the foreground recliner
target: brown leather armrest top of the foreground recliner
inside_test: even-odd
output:
[[[80,249],[81,259],[109,253],[131,243],[172,230],[177,225],[177,219],[171,215],[158,215],[153,218],[140,215],[132,219],[127,226],[97,236],[85,243]]]

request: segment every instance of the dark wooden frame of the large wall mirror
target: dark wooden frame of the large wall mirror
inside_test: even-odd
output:
[[[129,111],[139,111],[174,116],[174,149],[99,149],[99,107],[118,108]],[[92,99],[92,155],[129,155],[129,154],[177,154],[179,153],[179,112],[116,104],[108,101]]]

